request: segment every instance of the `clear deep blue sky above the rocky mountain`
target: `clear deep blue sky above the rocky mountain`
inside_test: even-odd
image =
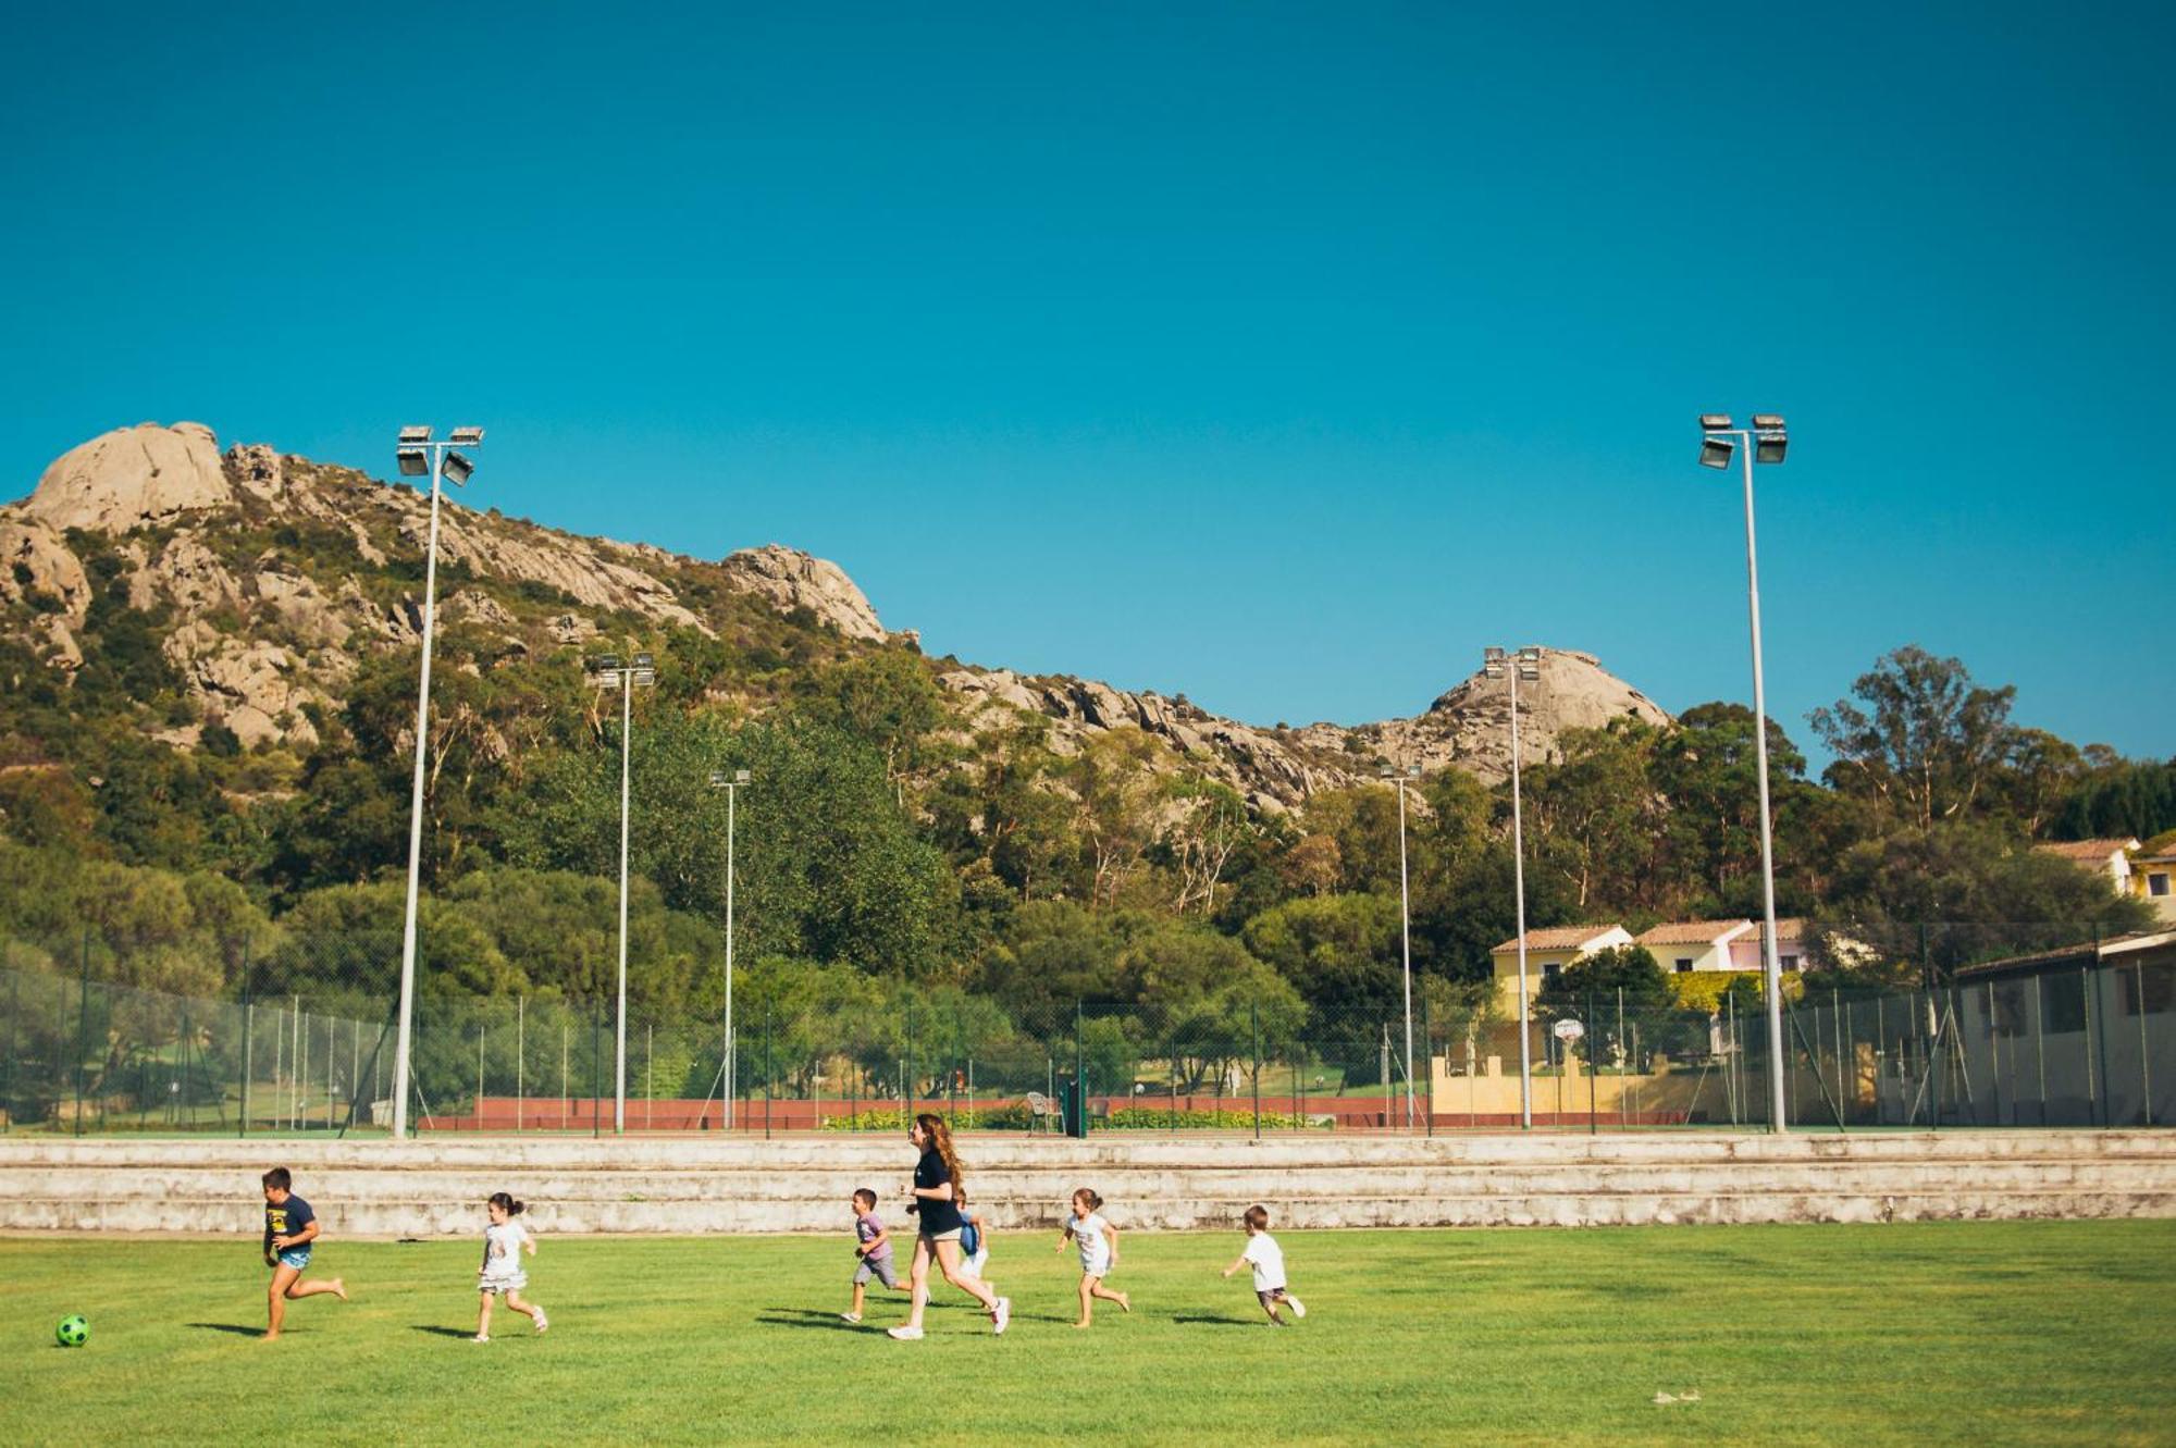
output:
[[[157,417],[1256,722],[1484,644],[2176,752],[2165,4],[17,7],[0,496]],[[614,7],[616,9],[616,7]],[[1517,11],[1512,15],[1510,11]]]

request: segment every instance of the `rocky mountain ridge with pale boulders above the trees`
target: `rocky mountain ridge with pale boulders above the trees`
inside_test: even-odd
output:
[[[222,452],[194,422],[118,428],[0,507],[4,633],[74,674],[94,589],[124,589],[128,609],[159,620],[157,648],[189,694],[191,717],[161,739],[194,748],[218,724],[242,746],[305,750],[318,737],[311,715],[339,702],[363,657],[416,641],[426,526],[426,496],[350,467],[261,444]],[[453,498],[440,520],[440,598],[444,622],[490,635],[498,657],[668,628],[742,648],[770,648],[755,635],[781,626],[849,652],[916,644],[886,631],[838,565],[779,544],[707,563]],[[962,737],[1025,713],[1049,720],[1053,748],[1073,752],[1099,731],[1136,726],[1166,746],[1155,767],[1221,778],[1266,811],[1384,765],[1458,765],[1484,781],[1510,767],[1506,687],[1478,674],[1417,717],[1260,728],[1184,696],[1086,678],[951,661],[934,672]],[[1525,759],[1545,759],[1565,728],[1621,713],[1669,717],[1593,654],[1543,650],[1541,681],[1521,687]]]

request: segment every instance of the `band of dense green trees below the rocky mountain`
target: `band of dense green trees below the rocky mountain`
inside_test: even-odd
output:
[[[124,626],[120,615],[104,626]],[[962,737],[910,648],[812,650],[746,683],[731,648],[655,637],[635,702],[631,946],[646,1011],[722,1000],[727,798],[751,1002],[870,978],[992,1000],[1369,1018],[1401,1000],[1397,796],[1325,791],[1256,815],[1138,731],[1077,750],[1042,720]],[[426,989],[594,1000],[616,970],[620,724],[570,652],[448,631],[426,794]],[[0,928],[11,952],[176,991],[392,989],[407,861],[413,652],[366,663],[318,744],[174,750],[100,700],[157,698],[154,650],[61,689],[13,667],[0,733]],[[141,674],[141,678],[137,678]],[[107,694],[102,694],[107,691]],[[148,691],[148,694],[144,694]],[[1808,778],[1771,722],[1778,904],[1839,922],[2074,922],[2115,900],[2030,846],[2176,826],[2176,761],[2126,761],[2008,722],[2011,689],[1897,650],[1815,735]],[[1758,915],[1752,715],[1575,731],[1525,772],[1532,926]],[[1412,963],[1438,1020],[1488,1009],[1512,935],[1510,796],[1445,770],[1408,796]],[[74,941],[74,944],[72,944]],[[33,961],[35,963],[35,961]]]

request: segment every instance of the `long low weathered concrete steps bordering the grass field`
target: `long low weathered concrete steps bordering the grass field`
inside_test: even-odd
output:
[[[1095,1187],[1129,1228],[1588,1226],[2176,1215],[2152,1131],[1867,1135],[970,1137],[999,1231],[1055,1228]],[[897,1213],[912,1152],[842,1139],[0,1141],[0,1231],[261,1231],[287,1165],[329,1237],[472,1237],[490,1191],[546,1233],[840,1233],[855,1187]]]

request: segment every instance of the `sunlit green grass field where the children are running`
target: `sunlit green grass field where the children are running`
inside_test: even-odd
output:
[[[261,1344],[248,1241],[0,1239],[0,1441],[2176,1441],[2176,1222],[1279,1239],[1284,1331],[1219,1278],[1238,1233],[1125,1237],[1088,1333],[1075,1257],[1012,1233],[1012,1331],[940,1287],[920,1344],[903,1296],[838,1322],[846,1233],[544,1239],[551,1333],[485,1346],[470,1244],[326,1241],[355,1300]]]

